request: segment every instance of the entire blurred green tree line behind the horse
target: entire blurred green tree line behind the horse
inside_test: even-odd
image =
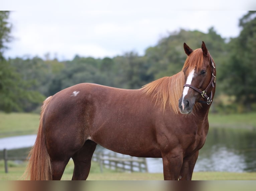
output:
[[[127,52],[113,58],[93,58],[76,55],[73,60],[45,58],[6,59],[4,46],[11,40],[9,12],[0,12],[0,110],[39,111],[49,95],[79,83],[138,89],[182,69],[186,54],[183,43],[193,49],[202,40],[217,68],[217,92],[214,112],[245,112],[256,109],[256,12],[249,11],[239,22],[237,38],[222,38],[212,27],[208,33],[179,31],[161,38],[146,49],[143,56]]]

